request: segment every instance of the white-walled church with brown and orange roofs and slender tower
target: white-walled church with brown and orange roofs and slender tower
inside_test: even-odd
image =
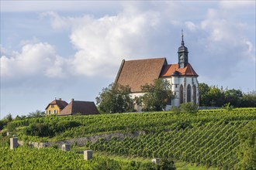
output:
[[[168,64],[166,58],[123,59],[116,75],[115,83],[129,85],[133,98],[143,95],[141,86],[153,83],[155,79],[168,80],[174,97],[168,102],[165,110],[178,107],[182,103],[199,104],[199,82],[192,65],[189,63],[189,51],[185,46],[182,33],[182,44],[178,47],[178,63]],[[137,111],[140,106],[135,106]]]

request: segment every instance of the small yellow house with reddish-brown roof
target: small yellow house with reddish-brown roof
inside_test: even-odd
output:
[[[47,115],[51,115],[51,114],[59,114],[61,112],[61,110],[64,109],[64,107],[67,106],[67,102],[64,100],[61,100],[61,98],[59,100],[53,100],[52,102],[50,102],[50,104],[48,104],[46,110],[46,114]]]

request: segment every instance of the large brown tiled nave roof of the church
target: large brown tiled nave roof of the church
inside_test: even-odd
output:
[[[140,92],[141,86],[153,83],[159,78],[162,67],[166,64],[165,58],[123,60],[115,83],[129,85],[133,93]]]

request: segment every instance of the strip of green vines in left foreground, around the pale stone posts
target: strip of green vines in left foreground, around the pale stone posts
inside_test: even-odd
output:
[[[0,169],[154,169],[153,163],[131,164],[102,156],[85,161],[83,155],[56,148],[0,148],[0,154]]]

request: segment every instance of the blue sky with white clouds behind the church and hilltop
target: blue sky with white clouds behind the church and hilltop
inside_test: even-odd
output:
[[[181,32],[199,83],[255,90],[255,1],[1,0],[1,109],[95,101],[122,59],[178,63]]]

